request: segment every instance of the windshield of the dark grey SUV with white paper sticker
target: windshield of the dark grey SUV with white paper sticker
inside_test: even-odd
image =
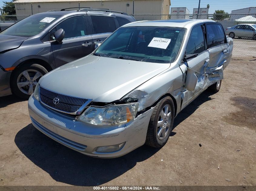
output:
[[[53,14],[35,14],[19,21],[8,29],[2,31],[0,34],[18,37],[32,37],[40,33],[45,27],[60,16],[61,15]]]

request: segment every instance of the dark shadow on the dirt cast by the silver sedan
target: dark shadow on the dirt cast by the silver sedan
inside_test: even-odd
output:
[[[211,100],[211,94],[205,91],[186,107],[175,118],[174,127],[194,113],[202,103]],[[172,132],[170,136],[175,134],[176,132]],[[120,158],[92,158],[55,142],[32,124],[16,134],[15,144],[29,160],[49,173],[54,180],[75,186],[107,183],[135,167],[137,162],[151,160],[161,149],[143,145]]]

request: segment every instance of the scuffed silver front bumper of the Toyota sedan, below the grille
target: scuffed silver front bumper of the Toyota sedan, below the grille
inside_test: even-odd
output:
[[[76,121],[68,115],[45,107],[33,96],[28,100],[28,112],[35,128],[55,141],[89,156],[116,158],[145,143],[153,108],[137,116],[131,123],[106,127]],[[119,151],[96,152],[99,146],[117,145],[122,142],[125,142],[125,145]]]

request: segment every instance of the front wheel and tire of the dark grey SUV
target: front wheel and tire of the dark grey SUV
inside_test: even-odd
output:
[[[25,63],[12,72],[11,89],[12,93],[22,99],[28,99],[34,92],[39,79],[48,73],[41,65]]]

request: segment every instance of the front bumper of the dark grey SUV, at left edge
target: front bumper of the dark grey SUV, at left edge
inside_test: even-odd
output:
[[[0,97],[12,94],[10,87],[11,71],[5,72],[0,68]]]

